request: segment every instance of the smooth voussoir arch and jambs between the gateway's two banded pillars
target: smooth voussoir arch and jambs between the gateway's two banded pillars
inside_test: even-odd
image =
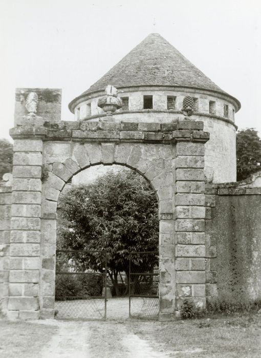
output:
[[[71,146],[71,155],[67,155],[67,158],[64,156],[62,161],[46,164],[49,172],[47,180],[42,186],[41,203],[40,309],[45,311],[46,314],[48,311],[51,314],[54,309],[54,255],[56,250],[56,210],[59,194],[73,175],[100,164],[106,166],[122,165],[138,172],[148,181],[157,195],[160,221],[160,266],[163,263],[161,256],[165,258],[168,255],[168,259],[163,263],[164,269],[162,271],[167,273],[164,275],[164,282],[160,282],[160,290],[162,297],[164,297],[164,307],[173,311],[175,309],[173,307],[173,296],[175,295],[173,262],[175,253],[173,235],[171,235],[174,230],[173,148],[164,145],[136,143],[74,143]],[[163,237],[164,242],[161,242],[161,237]],[[162,297],[160,296],[160,299]],[[168,297],[172,298],[168,299]]]

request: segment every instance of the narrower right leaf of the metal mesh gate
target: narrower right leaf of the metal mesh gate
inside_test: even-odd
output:
[[[159,253],[129,254],[129,317],[158,319]]]

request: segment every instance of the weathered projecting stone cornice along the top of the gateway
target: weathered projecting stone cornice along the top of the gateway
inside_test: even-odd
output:
[[[23,123],[23,122],[19,122]],[[25,125],[10,129],[13,139],[42,139],[44,141],[80,142],[147,142],[170,144],[177,141],[207,142],[209,133],[203,131],[202,121],[183,120],[175,123],[155,122],[45,122],[24,118]],[[41,124],[41,125],[39,125]]]

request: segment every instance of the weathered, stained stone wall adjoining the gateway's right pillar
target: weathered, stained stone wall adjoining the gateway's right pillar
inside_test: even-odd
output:
[[[261,175],[255,174],[256,185]],[[206,296],[261,301],[261,188],[253,181],[206,189]]]

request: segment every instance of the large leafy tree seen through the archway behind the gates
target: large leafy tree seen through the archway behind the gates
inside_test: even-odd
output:
[[[158,202],[144,178],[133,171],[110,171],[90,185],[61,195],[58,248],[106,250],[107,273],[118,290],[118,274],[128,272],[129,252],[158,250]],[[104,256],[71,254],[76,269],[104,271]],[[154,254],[135,255],[133,270],[153,270]]]

